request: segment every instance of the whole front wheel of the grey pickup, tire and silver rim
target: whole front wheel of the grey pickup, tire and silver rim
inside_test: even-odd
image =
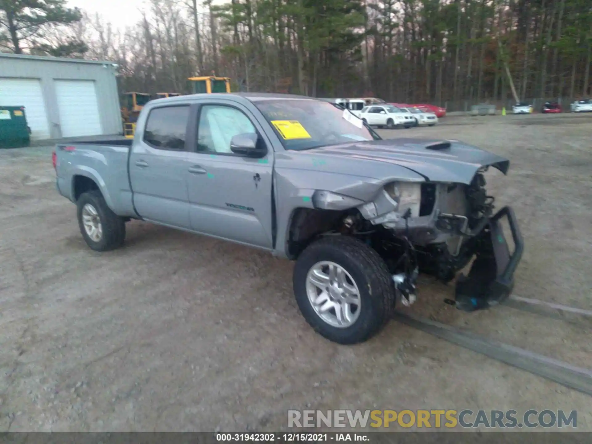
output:
[[[296,262],[292,284],[308,324],[340,344],[370,339],[395,305],[384,260],[353,237],[330,236],[310,244]]]

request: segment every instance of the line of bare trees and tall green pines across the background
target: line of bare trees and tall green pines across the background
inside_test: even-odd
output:
[[[65,0],[0,0],[0,46],[111,60],[122,91],[233,90],[388,101],[590,94],[590,0],[149,0],[124,30]]]

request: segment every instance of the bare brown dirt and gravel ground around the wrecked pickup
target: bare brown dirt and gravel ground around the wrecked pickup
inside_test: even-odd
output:
[[[459,139],[511,160],[491,173],[526,251],[515,294],[592,308],[592,115],[449,117],[385,137]],[[285,430],[287,410],[578,410],[590,397],[391,322],[339,346],[314,333],[292,263],[139,221],[92,252],[54,188],[50,147],[0,152],[0,432]],[[588,270],[588,272],[586,272]],[[586,326],[443,304],[422,277],[411,311],[592,366]]]

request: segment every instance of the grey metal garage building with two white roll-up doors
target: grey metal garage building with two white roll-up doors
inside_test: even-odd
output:
[[[121,134],[117,66],[0,53],[0,105],[23,106],[31,139]]]

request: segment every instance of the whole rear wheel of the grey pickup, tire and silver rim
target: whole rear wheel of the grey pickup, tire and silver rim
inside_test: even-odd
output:
[[[76,202],[78,226],[86,244],[95,251],[120,247],[126,239],[126,223],[111,211],[99,191],[88,191]]]

